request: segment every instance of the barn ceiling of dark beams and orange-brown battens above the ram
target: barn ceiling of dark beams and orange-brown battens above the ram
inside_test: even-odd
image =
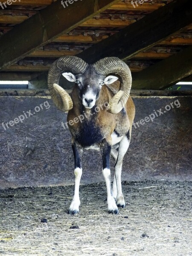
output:
[[[10,5],[0,6],[0,80],[30,80],[47,72],[63,55],[78,55],[90,62],[118,56],[127,62],[136,80],[138,73],[140,79],[144,70],[150,73],[151,66],[158,64],[157,69],[153,67],[158,73],[163,65],[169,66],[167,59],[170,63],[177,62],[177,55],[182,59],[182,52],[187,51],[187,64],[192,65],[189,0],[148,0],[143,4],[79,0],[66,8],[60,0],[10,1]],[[192,66],[174,81],[191,75],[190,70]]]

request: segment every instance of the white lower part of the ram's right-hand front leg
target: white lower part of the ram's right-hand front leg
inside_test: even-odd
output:
[[[118,208],[115,203],[115,199],[113,198],[113,192],[111,189],[111,172],[110,169],[105,168],[103,169],[103,176],[105,177],[105,182],[107,186],[107,193],[108,193],[108,212],[109,213],[118,213]]]

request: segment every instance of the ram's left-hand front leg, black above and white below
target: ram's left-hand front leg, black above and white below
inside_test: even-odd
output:
[[[77,148],[77,145],[75,142],[72,141],[72,148],[73,148],[73,154],[75,159],[75,192],[73,196],[73,201],[70,205],[70,209],[68,211],[69,214],[76,214],[79,212],[79,205],[80,205],[80,199],[79,199],[79,185],[82,175],[82,167],[81,167],[81,157],[79,155],[79,150]]]

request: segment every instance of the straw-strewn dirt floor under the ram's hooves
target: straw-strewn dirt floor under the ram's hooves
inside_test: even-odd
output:
[[[123,182],[126,207],[108,214],[105,183],[0,191],[0,255],[190,256],[192,182]],[[128,204],[129,203],[129,204]]]

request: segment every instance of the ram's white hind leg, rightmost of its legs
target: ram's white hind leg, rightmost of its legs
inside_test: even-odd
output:
[[[125,200],[122,194],[122,187],[121,187],[121,171],[122,171],[122,161],[125,153],[128,150],[130,140],[127,136],[123,137],[122,140],[119,142],[119,151],[118,157],[115,165],[115,177],[116,177],[116,187],[117,187],[117,195],[116,195],[116,205],[118,207],[125,207]]]

